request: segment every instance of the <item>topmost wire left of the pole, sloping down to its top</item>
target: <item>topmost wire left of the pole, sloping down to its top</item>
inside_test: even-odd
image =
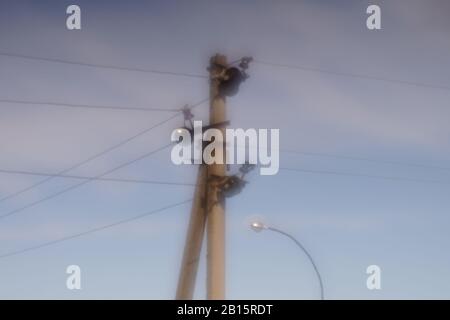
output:
[[[115,66],[115,65],[107,65],[107,64],[99,64],[99,63],[89,63],[89,62],[73,61],[73,60],[65,60],[65,59],[56,59],[56,58],[45,58],[45,57],[31,56],[31,55],[18,54],[18,53],[10,53],[10,52],[0,52],[0,56],[10,57],[10,58],[27,59],[27,60],[34,60],[34,61],[51,62],[51,63],[62,63],[62,64],[68,64],[68,65],[91,67],[91,68],[111,69],[111,70],[120,70],[120,71],[133,71],[133,72],[143,72],[143,73],[154,73],[154,74],[163,74],[163,75],[189,77],[189,78],[202,78],[202,79],[207,78],[206,75],[200,75],[200,74],[174,72],[174,71],[164,71],[164,70],[156,70],[156,69],[123,67],[123,66]]]

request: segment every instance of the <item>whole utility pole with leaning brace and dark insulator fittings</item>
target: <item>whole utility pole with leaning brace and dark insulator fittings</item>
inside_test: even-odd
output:
[[[251,60],[251,57],[242,58],[239,68],[228,65],[223,55],[217,54],[210,60],[210,123],[203,129],[220,130],[223,141],[214,141],[216,146],[221,146],[214,149],[215,154],[212,155],[216,162],[205,164],[202,161],[198,171],[176,299],[193,297],[205,228],[207,298],[225,299],[225,197],[240,193],[246,183],[244,175],[252,167],[248,164],[241,167],[241,177],[227,176],[225,130],[229,122],[226,120],[225,97],[238,92],[239,85],[248,77],[245,70]],[[188,109],[183,112],[185,121],[193,117]],[[202,158],[203,151],[202,147]]]

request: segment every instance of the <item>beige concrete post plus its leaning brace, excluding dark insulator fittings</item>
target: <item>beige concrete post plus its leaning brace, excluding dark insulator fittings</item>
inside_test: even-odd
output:
[[[225,97],[219,94],[219,85],[227,69],[225,56],[215,55],[210,61],[210,126],[222,130],[225,137]],[[225,141],[223,141],[225,143]],[[224,145],[223,145],[224,146]],[[203,150],[202,150],[203,152]],[[219,186],[214,183],[226,175],[224,164],[201,164],[197,187],[191,208],[176,299],[192,299],[202,241],[207,224],[207,298],[225,297],[225,210],[224,200],[219,196]],[[202,154],[203,156],[203,154]],[[219,156],[219,154],[217,155]]]

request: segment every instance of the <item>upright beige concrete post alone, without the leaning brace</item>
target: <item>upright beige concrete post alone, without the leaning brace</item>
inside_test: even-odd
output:
[[[216,55],[210,62],[210,116],[211,125],[226,121],[225,97],[219,94],[220,75],[227,68],[225,56]],[[221,126],[225,139],[225,127]],[[226,175],[225,141],[223,164],[211,164],[207,169],[207,298],[225,299],[225,199],[220,197],[214,179]]]

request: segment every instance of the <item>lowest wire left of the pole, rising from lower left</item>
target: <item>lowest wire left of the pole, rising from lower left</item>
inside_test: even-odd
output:
[[[189,203],[191,201],[192,201],[192,199],[185,200],[185,201],[178,202],[178,203],[175,203],[175,204],[172,204],[172,205],[168,205],[168,206],[165,206],[165,207],[162,207],[162,208],[159,208],[159,209],[155,209],[155,210],[152,210],[152,211],[149,211],[149,212],[146,212],[146,213],[143,213],[143,214],[131,217],[131,218],[119,220],[119,221],[116,221],[114,223],[106,224],[106,225],[103,225],[103,226],[100,226],[100,227],[97,227],[97,228],[93,228],[93,229],[86,230],[86,231],[83,231],[83,232],[75,233],[73,235],[66,236],[66,237],[63,237],[63,238],[59,238],[59,239],[56,239],[56,240],[52,240],[52,241],[49,241],[49,242],[45,242],[45,243],[42,243],[42,244],[39,244],[39,245],[36,245],[36,246],[27,247],[27,248],[24,248],[24,249],[21,249],[21,250],[17,250],[17,251],[11,251],[11,252],[8,252],[8,253],[0,255],[0,259],[11,257],[11,256],[15,256],[15,255],[19,255],[19,254],[30,252],[30,251],[34,251],[34,250],[38,250],[38,249],[41,249],[41,248],[44,248],[44,247],[48,247],[48,246],[51,246],[51,245],[55,245],[55,244],[58,244],[58,243],[61,243],[61,242],[64,242],[64,241],[68,241],[68,240],[71,240],[71,239],[79,238],[79,237],[82,237],[82,236],[85,236],[85,235],[88,235],[88,234],[91,234],[91,233],[95,233],[95,232],[99,232],[99,231],[102,231],[102,230],[105,230],[105,229],[116,227],[116,226],[119,226],[119,225],[122,225],[122,224],[125,224],[125,223],[128,223],[128,222],[131,222],[131,221],[142,219],[142,218],[147,217],[149,215],[153,215],[153,214],[159,213],[161,211],[165,211],[165,210],[168,210],[168,209],[172,209],[172,208],[175,208],[175,207],[182,206],[182,205],[187,204],[187,203]]]

